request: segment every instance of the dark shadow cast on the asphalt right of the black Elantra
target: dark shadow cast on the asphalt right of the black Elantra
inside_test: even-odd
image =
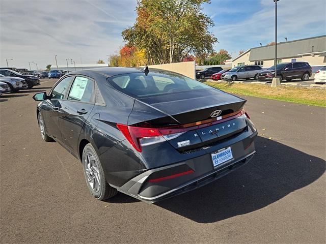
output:
[[[211,184],[155,203],[198,223],[247,214],[306,187],[325,172],[325,161],[274,140],[256,139],[256,155]]]

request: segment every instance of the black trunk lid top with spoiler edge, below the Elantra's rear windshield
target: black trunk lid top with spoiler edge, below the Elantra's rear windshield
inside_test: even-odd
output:
[[[216,110],[222,111],[218,116],[234,113],[244,103],[246,100],[214,88],[137,99],[128,125],[144,122],[157,127],[184,125],[213,118],[211,114]]]

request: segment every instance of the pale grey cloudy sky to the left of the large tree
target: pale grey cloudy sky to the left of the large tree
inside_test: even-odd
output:
[[[123,44],[121,32],[135,20],[132,0],[0,1],[0,66],[39,68],[66,58],[95,63]],[[128,8],[126,8],[128,6]],[[32,69],[36,67],[32,67]]]

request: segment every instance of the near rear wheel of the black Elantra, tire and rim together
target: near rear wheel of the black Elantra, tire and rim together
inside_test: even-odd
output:
[[[107,184],[104,170],[91,143],[83,149],[82,163],[87,187],[93,197],[105,200],[117,195],[117,189]]]

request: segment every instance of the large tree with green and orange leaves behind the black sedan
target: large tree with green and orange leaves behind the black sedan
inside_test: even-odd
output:
[[[122,36],[128,46],[144,49],[149,64],[181,62],[188,54],[212,52],[217,39],[213,21],[202,12],[209,0],[139,0],[133,26]]]

